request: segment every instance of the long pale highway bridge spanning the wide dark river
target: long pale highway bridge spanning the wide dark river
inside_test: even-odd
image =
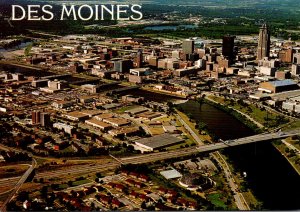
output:
[[[294,135],[300,135],[300,130],[297,129],[297,130],[291,130],[287,132],[262,133],[258,135],[245,137],[245,138],[227,140],[215,144],[202,145],[198,147],[189,147],[189,148],[178,149],[169,152],[150,153],[150,154],[145,154],[145,155],[135,156],[135,157],[119,158],[118,160],[122,164],[142,164],[142,163],[149,163],[158,160],[184,157],[184,156],[198,154],[198,153],[213,152],[220,149],[225,149],[228,147],[239,146],[244,144],[271,141],[276,139],[284,139]]]

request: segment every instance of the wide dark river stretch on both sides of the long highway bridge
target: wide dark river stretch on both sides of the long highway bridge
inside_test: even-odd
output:
[[[188,101],[180,106],[224,140],[253,135],[243,123],[208,104]],[[300,177],[270,142],[231,147],[223,153],[237,172],[247,172],[248,187],[263,202],[262,209],[300,209]]]

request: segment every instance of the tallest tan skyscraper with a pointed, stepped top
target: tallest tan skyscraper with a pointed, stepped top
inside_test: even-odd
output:
[[[259,30],[257,59],[261,60],[270,56],[271,35],[267,24],[262,25]]]

